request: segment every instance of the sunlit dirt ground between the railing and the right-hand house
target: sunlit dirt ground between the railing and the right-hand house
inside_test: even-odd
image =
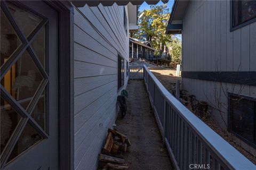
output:
[[[163,84],[163,86],[171,92],[173,85],[176,84],[177,80],[180,80],[181,77],[176,76],[176,69],[168,69],[168,68],[150,68],[149,69],[155,77]],[[181,88],[181,87],[180,87]]]

